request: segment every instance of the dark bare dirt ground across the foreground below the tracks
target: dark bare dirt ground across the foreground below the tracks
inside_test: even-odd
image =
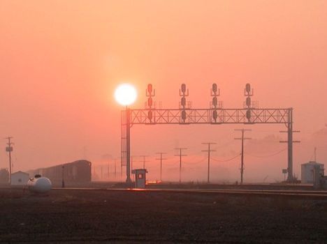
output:
[[[327,199],[0,189],[0,243],[326,243]]]

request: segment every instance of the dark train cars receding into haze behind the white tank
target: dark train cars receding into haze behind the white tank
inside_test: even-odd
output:
[[[63,181],[66,185],[78,185],[91,182],[91,166],[92,162],[77,160],[48,168],[30,170],[29,175],[31,177],[38,174],[45,176],[53,185],[61,185]]]

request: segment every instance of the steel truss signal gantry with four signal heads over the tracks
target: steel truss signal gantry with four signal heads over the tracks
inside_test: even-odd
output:
[[[251,101],[253,90],[249,84],[245,86],[245,96],[247,96],[245,106],[242,109],[223,108],[221,102],[217,101],[219,90],[216,84],[212,84],[212,102],[210,108],[194,109],[190,103],[186,102],[185,97],[188,96],[188,90],[185,84],[180,89],[180,108],[179,109],[157,109],[153,106],[152,98],[154,91],[152,85],[147,87],[147,107],[145,109],[130,109],[121,114],[122,137],[121,137],[121,162],[126,166],[126,183],[131,183],[131,126],[132,125],[158,125],[158,124],[284,124],[287,130],[288,147],[288,167],[287,181],[293,181],[293,108],[257,108]]]

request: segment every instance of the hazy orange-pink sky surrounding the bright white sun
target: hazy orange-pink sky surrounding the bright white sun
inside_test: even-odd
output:
[[[208,107],[212,82],[224,107],[242,107],[250,82],[260,107],[294,108],[295,139],[310,141],[327,123],[327,1],[0,0],[0,57],[0,136],[14,137],[16,170],[118,157],[121,107],[113,92],[122,82],[138,89],[134,107],[144,106],[152,83],[156,100],[171,108],[181,83],[193,107]],[[132,153],[173,158],[183,146],[202,159],[201,142],[232,141],[215,155],[228,158],[239,149],[234,128],[242,125],[135,126]],[[251,128],[253,139],[285,137],[283,125]],[[266,155],[286,146],[278,141]],[[0,167],[8,167],[2,144]],[[297,174],[312,155],[306,145],[294,150]],[[238,161],[224,167],[239,174]],[[286,153],[247,165],[262,168],[254,178],[271,170],[282,177]]]

